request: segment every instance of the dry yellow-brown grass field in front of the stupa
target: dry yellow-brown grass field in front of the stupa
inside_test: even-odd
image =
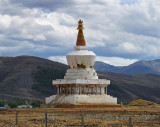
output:
[[[0,110],[0,127],[80,127],[81,115],[85,127],[160,127],[159,106],[123,106],[114,108],[35,108]]]

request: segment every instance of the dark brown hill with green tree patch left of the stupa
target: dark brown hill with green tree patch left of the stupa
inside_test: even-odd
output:
[[[0,99],[2,95],[43,99],[54,94],[52,79],[62,78],[67,66],[33,57],[0,57]]]

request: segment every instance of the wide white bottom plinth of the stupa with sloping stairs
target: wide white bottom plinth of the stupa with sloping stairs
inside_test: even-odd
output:
[[[117,105],[117,98],[110,95],[53,95],[46,98],[46,104],[53,107],[111,107]]]

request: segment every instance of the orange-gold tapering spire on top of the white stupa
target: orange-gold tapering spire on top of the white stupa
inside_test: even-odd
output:
[[[76,45],[77,46],[85,46],[86,42],[85,42],[84,35],[83,35],[83,29],[84,29],[84,27],[83,27],[83,21],[81,19],[78,22],[78,28],[77,29],[79,31],[78,31]]]

